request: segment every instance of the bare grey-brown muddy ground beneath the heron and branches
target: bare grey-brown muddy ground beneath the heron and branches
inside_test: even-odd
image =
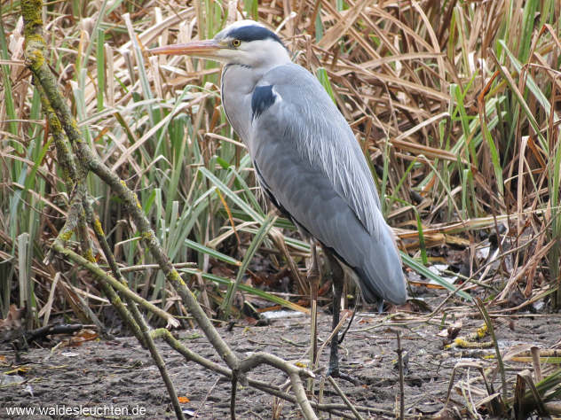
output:
[[[478,362],[484,367],[495,366],[494,359],[483,358],[494,354],[492,349],[445,349],[446,334],[443,323],[461,323],[459,336],[474,334],[482,321],[475,309],[464,315],[441,316],[430,323],[415,323],[414,315],[401,316],[361,312],[356,316],[351,330],[340,346],[341,366],[360,385],[337,380],[352,404],[395,412],[398,407],[399,372],[396,369],[396,335],[389,327],[398,328],[402,346],[407,351],[405,372],[405,401],[407,416],[429,416],[441,409],[452,369],[458,362]],[[468,314],[468,315],[465,315]],[[518,313],[510,317],[495,317],[496,337],[502,350],[533,344],[542,348],[555,346],[561,338],[561,318],[558,315],[533,315]],[[288,317],[273,320],[268,326],[236,325],[232,331],[219,329],[230,346],[242,357],[250,352],[265,351],[290,361],[306,358],[309,321],[307,317]],[[327,338],[330,316],[320,314],[320,338]],[[440,336],[439,336],[440,333]],[[445,337],[441,337],[444,335]],[[206,338],[198,331],[180,331],[178,337],[191,350],[220,362]],[[488,340],[489,338],[483,338]],[[321,343],[321,341],[320,341]],[[186,362],[164,343],[158,344],[167,363],[176,390],[183,399],[186,413],[197,418],[229,418],[230,383],[219,375]],[[558,343],[557,343],[558,346]],[[158,369],[146,350],[135,338],[116,338],[112,341],[95,340],[82,346],[31,348],[20,354],[16,362],[12,351],[0,353],[2,371],[14,366],[20,369],[24,382],[0,387],[0,417],[2,418],[84,418],[87,412],[65,415],[62,409],[98,408],[88,418],[174,418],[173,409],[165,391]],[[321,354],[322,366],[327,366],[328,350]],[[507,362],[510,379],[531,364]],[[477,369],[460,369],[454,382],[478,376]],[[259,368],[251,377],[281,385],[286,377],[279,370]],[[509,385],[509,393],[513,385]],[[499,376],[494,380],[495,390],[500,389]],[[316,385],[316,390],[320,383]],[[464,395],[454,389],[451,404],[464,407],[467,399],[478,401],[485,395],[481,382],[464,388]],[[331,385],[324,385],[322,402],[343,403]],[[237,393],[238,418],[272,418],[273,397],[252,389],[240,388]],[[59,412],[39,416],[7,414],[7,408],[55,409]],[[105,411],[103,411],[105,409]],[[128,410],[128,412],[127,412]],[[138,416],[142,413],[143,416]],[[350,412],[349,412],[350,413]],[[392,417],[381,412],[362,413],[365,418]],[[323,415],[328,418],[328,414]],[[298,418],[296,406],[281,402],[281,418]],[[332,416],[331,418],[335,418]]]

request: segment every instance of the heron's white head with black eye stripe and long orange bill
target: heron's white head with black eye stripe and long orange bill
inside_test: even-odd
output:
[[[153,54],[186,54],[225,64],[260,67],[290,61],[279,36],[255,20],[240,20],[225,27],[213,39],[178,43],[150,50]]]

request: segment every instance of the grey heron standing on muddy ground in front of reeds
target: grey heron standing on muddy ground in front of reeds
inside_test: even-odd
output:
[[[258,183],[311,240],[312,305],[318,279],[314,241],[335,263],[333,328],[339,323],[343,271],[359,284],[368,303],[406,301],[398,249],[360,145],[320,82],[292,62],[278,35],[254,20],[241,20],[213,39],[150,52],[225,64],[222,104],[248,147]],[[337,345],[335,334],[329,357],[332,376],[341,375]]]

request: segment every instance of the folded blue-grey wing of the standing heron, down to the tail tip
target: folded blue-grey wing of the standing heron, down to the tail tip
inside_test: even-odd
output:
[[[354,269],[367,301],[402,303],[406,291],[399,254],[366,159],[344,117],[300,66],[276,67],[262,83],[258,95],[265,97],[269,89],[274,97],[260,108],[261,101],[252,104],[249,152],[265,190]]]

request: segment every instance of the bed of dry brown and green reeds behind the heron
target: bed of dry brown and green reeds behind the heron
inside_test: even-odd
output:
[[[23,60],[20,2],[0,7],[0,318],[14,304],[46,325],[107,299],[89,272],[45,262],[71,191]],[[220,67],[147,48],[211,37],[242,16],[265,23],[350,122],[414,294],[426,278],[456,288],[428,269],[444,262],[469,293],[456,305],[478,296],[490,311],[558,310],[560,15],[556,0],[75,0],[45,2],[43,18],[84,139],[137,192],[214,314],[234,281],[251,299],[305,310],[305,299],[276,293],[304,296],[305,286],[293,274],[282,290],[277,273],[304,268],[309,248],[290,222],[267,216],[225,120]],[[130,288],[181,315],[120,200],[95,176],[86,183]]]

